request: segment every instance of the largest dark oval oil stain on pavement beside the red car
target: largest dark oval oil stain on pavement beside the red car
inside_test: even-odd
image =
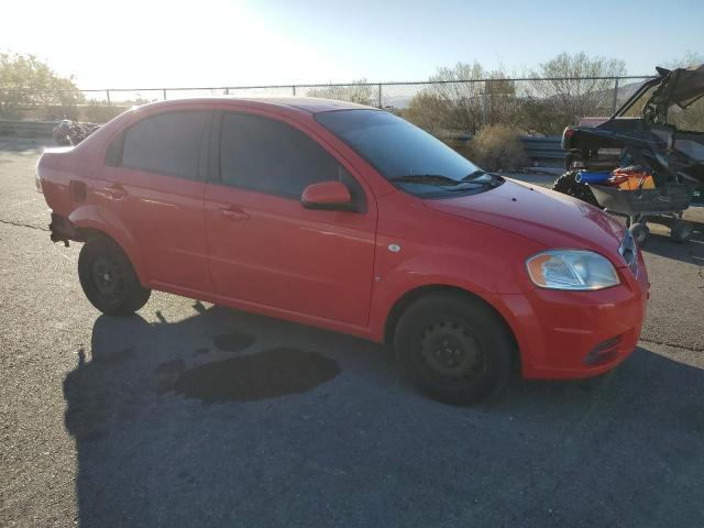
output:
[[[283,346],[184,370],[170,391],[205,404],[252,402],[304,393],[338,374],[337,361]]]

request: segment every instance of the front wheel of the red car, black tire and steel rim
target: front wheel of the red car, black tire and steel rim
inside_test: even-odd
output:
[[[413,383],[452,405],[480,402],[503,387],[514,340],[504,321],[477,299],[430,294],[406,309],[394,346]]]

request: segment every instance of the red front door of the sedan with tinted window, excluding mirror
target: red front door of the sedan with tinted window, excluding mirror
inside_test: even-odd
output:
[[[209,265],[232,299],[365,326],[376,207],[351,167],[273,117],[223,112],[219,180],[206,190]],[[305,209],[305,187],[341,180],[356,212]]]

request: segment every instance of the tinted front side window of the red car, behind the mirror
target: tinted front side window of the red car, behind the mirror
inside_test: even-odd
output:
[[[296,200],[307,186],[337,179],[353,200],[364,202],[356,180],[311,138],[258,116],[223,114],[220,172],[224,184]]]

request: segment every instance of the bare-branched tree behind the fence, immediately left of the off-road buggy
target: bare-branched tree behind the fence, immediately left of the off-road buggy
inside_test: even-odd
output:
[[[568,124],[587,116],[610,114],[615,77],[626,74],[626,63],[618,58],[590,57],[584,52],[561,53],[530,73],[527,99],[548,112],[546,125],[530,122],[529,128],[544,133],[560,133]],[[606,77],[606,78],[604,78]],[[532,120],[531,120],[532,121]]]

